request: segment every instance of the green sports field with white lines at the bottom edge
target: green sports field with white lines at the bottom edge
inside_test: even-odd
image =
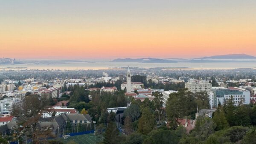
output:
[[[62,138],[63,143],[65,144],[65,140]],[[75,141],[77,144],[95,144],[95,135],[93,133],[86,135],[77,135],[77,136],[69,136],[67,138],[67,144],[69,141]],[[96,143],[102,141],[100,138],[96,137]]]

